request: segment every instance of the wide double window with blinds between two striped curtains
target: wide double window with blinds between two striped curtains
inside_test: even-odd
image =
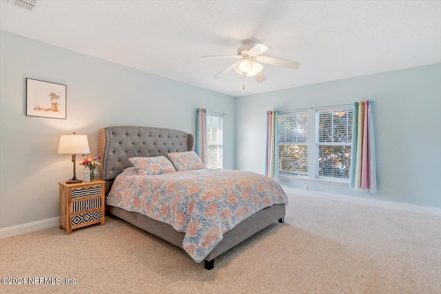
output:
[[[349,180],[352,120],[351,105],[279,112],[279,174]]]

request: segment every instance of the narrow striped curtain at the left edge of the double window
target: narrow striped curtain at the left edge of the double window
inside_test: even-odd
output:
[[[277,151],[276,151],[276,132],[277,132],[277,110],[267,112],[267,176],[277,178]]]

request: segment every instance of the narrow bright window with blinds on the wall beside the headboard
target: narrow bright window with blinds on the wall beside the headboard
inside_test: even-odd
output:
[[[223,117],[207,112],[207,162],[209,169],[222,169]]]

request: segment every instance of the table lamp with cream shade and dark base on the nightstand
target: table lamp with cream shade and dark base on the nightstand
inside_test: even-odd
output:
[[[88,154],[90,153],[89,142],[87,135],[61,135],[60,144],[58,146],[58,154],[72,154],[72,162],[74,165],[74,176],[67,180],[68,184],[74,182],[83,182],[76,178],[76,154]]]

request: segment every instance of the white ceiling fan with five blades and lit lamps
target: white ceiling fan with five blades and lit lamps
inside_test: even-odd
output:
[[[298,69],[300,67],[300,63],[296,61],[289,61],[285,59],[276,59],[274,57],[263,56],[260,55],[271,47],[265,44],[255,43],[254,41],[245,40],[242,42],[242,46],[240,46],[237,50],[237,55],[214,55],[214,56],[202,56],[201,58],[234,58],[238,59],[232,65],[225,68],[222,72],[213,76],[213,78],[220,78],[221,76],[231,72],[232,70],[236,71],[238,74],[247,76],[254,76],[256,78],[257,83],[263,83],[267,80],[265,75],[263,74],[263,65],[261,63],[268,63],[272,65],[278,65],[283,67],[288,67],[293,70]]]

